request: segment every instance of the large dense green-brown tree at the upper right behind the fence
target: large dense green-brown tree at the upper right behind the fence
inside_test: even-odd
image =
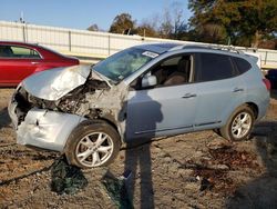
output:
[[[191,30],[203,41],[226,43],[230,38],[233,44],[258,47],[277,31],[277,0],[189,0],[188,8],[193,11]],[[211,24],[217,26],[217,36],[208,30],[203,37]]]

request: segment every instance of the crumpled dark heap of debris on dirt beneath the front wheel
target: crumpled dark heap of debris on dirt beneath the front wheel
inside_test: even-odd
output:
[[[88,186],[88,180],[82,170],[75,166],[70,166],[64,156],[54,161],[51,175],[51,189],[58,195],[74,195],[78,190]]]

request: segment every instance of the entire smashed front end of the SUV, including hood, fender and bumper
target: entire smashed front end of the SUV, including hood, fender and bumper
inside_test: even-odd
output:
[[[9,115],[18,143],[63,151],[80,122],[117,120],[122,101],[119,88],[111,88],[90,68],[50,71],[28,78],[12,96]]]

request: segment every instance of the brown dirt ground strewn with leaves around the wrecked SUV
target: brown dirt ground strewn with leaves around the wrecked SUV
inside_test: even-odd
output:
[[[277,208],[276,93],[247,141],[203,131],[123,148],[109,168],[82,171],[86,187],[58,195],[50,185],[59,155],[16,143],[7,112],[12,91],[0,89],[0,208],[119,208],[101,179],[125,170],[134,208]]]

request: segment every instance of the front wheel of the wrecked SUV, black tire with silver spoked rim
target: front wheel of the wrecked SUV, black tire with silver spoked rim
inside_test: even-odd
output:
[[[110,165],[116,158],[120,147],[120,135],[112,126],[100,121],[84,121],[71,132],[64,153],[70,165],[95,168]]]

